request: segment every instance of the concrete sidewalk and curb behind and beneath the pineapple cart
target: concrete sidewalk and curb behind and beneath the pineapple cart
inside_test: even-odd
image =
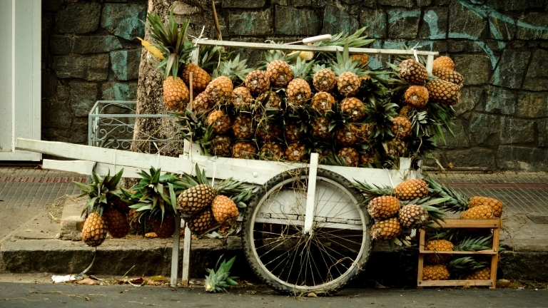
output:
[[[548,281],[547,173],[430,174],[468,196],[485,195],[504,202],[502,243],[509,251],[502,257],[500,277]],[[93,260],[93,249],[78,241],[76,222],[69,218],[78,220],[83,200],[60,198],[79,193],[71,184],[73,180],[86,178],[51,170],[0,168],[0,272],[77,273]],[[133,274],[167,276],[171,245],[171,240],[107,239],[98,249],[91,272],[121,275],[135,265]],[[235,265],[242,272],[240,276],[250,274],[238,237],[227,241],[194,240],[192,248],[193,277],[201,276],[203,268],[211,267],[223,252],[240,256]],[[380,273],[387,274],[383,262],[397,264],[399,258],[398,252],[377,243],[367,265],[372,276],[367,279],[385,279],[379,277]],[[392,274],[397,275],[397,271]]]

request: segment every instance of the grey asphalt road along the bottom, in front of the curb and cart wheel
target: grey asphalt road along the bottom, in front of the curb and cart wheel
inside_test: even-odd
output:
[[[288,297],[270,289],[203,289],[0,283],[0,307],[548,307],[542,289],[344,289],[333,297]]]

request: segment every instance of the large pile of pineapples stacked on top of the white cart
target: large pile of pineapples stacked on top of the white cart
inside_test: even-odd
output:
[[[273,49],[253,68],[202,46],[196,65],[187,27],[148,14],[156,43],[143,44],[163,72],[163,99],[178,111],[183,137],[205,155],[302,162],[315,152],[324,164],[392,168],[402,156],[427,158],[445,142],[441,128],[450,131],[464,79],[445,56],[430,77],[420,58],[370,70],[367,55],[348,53],[372,42],[360,29],[316,43],[344,46],[342,53]]]

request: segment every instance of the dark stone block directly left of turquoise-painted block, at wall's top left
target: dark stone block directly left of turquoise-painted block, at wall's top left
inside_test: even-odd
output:
[[[85,34],[96,31],[101,17],[101,4],[78,2],[68,4],[57,13],[57,31],[60,33]]]

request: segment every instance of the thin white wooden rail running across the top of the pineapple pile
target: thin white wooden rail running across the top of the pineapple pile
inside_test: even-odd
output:
[[[248,48],[259,50],[283,50],[283,51],[315,51],[315,52],[332,52],[342,51],[341,46],[307,46],[307,45],[282,45],[271,43],[247,43],[237,41],[215,41],[207,39],[193,40],[193,43],[206,46],[224,46],[233,48]],[[367,54],[386,54],[386,55],[414,55],[412,50],[402,49],[380,49],[380,48],[348,48],[350,53],[367,53]],[[437,56],[437,51],[417,51],[417,55],[421,56]]]

